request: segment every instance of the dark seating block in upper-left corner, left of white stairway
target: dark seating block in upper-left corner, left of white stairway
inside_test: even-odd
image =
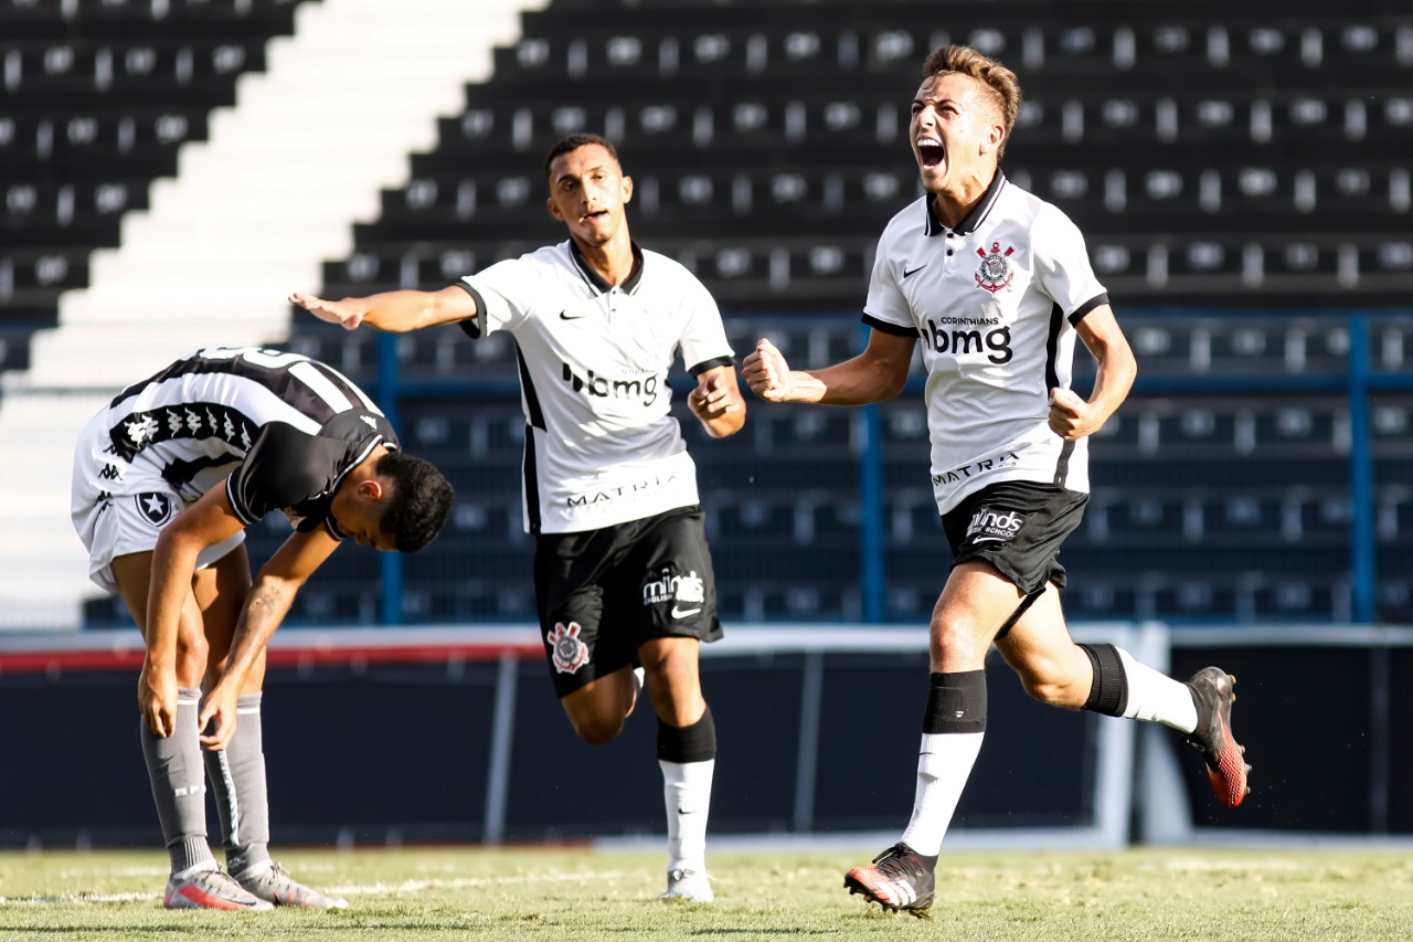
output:
[[[264,68],[300,0],[4,0],[0,64],[0,331],[23,347],[88,286],[88,256],[177,173],[211,109]],[[21,354],[0,368],[28,364]]]

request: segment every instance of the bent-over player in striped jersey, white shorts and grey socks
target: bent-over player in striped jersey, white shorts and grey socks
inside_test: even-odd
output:
[[[451,502],[447,478],[403,454],[357,386],[298,354],[202,349],[124,389],[83,430],[73,526],[93,581],[122,595],[147,648],[137,699],[171,857],[165,907],[346,905],[270,859],[266,642],[345,539],[414,552]],[[273,511],[294,533],[252,581],[244,529]],[[227,873],[206,843],[202,745]]]

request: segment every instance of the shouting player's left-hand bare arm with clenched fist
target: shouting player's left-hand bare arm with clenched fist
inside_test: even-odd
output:
[[[750,390],[766,402],[817,402],[863,406],[893,399],[907,383],[916,337],[872,331],[869,345],[853,359],[824,369],[790,369],[784,355],[762,339],[742,364]]]

